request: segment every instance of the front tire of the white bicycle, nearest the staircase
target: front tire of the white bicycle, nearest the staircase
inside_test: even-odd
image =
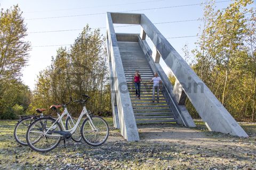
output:
[[[100,146],[100,145],[102,145],[103,143],[105,143],[106,140],[108,139],[108,136],[109,136],[109,127],[108,127],[108,123],[107,123],[102,117],[100,117],[100,116],[91,116],[91,119],[92,119],[92,121],[98,119],[98,120],[102,121],[102,122],[105,124],[106,135],[105,135],[105,137],[104,137],[100,142],[98,142],[98,143],[94,143],[94,142],[90,141],[89,139],[86,139],[87,137],[85,137],[84,128],[85,128],[85,125],[86,125],[87,122],[89,122],[89,125],[90,125],[90,120],[89,120],[89,118],[87,117],[87,118],[83,121],[83,124],[82,124],[82,127],[81,127],[82,138],[83,138],[84,141],[85,141],[88,145],[90,145],[90,146],[94,146],[94,147]],[[98,123],[98,124],[99,124],[99,123]],[[95,125],[94,125],[94,126],[95,126]],[[90,127],[91,127],[91,125],[89,126],[89,129],[90,129]],[[97,127],[95,126],[95,128],[97,128]],[[89,131],[92,131],[92,128],[91,128],[91,130],[88,130],[86,133],[88,134]],[[94,132],[95,132],[95,131],[94,131]],[[97,131],[97,132],[98,132],[98,131]],[[99,132],[98,132],[98,133],[99,133]],[[93,134],[93,135],[94,135],[94,134]],[[95,135],[94,135],[94,137],[95,137]]]

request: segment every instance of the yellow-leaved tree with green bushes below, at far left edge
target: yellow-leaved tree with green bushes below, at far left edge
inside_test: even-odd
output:
[[[30,90],[21,81],[30,44],[26,24],[17,6],[0,11],[0,118],[17,118],[30,103]]]

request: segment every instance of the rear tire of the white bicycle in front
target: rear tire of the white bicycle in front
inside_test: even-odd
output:
[[[31,124],[29,125],[28,131],[27,131],[27,134],[26,134],[26,140],[27,140],[28,146],[29,146],[31,149],[33,149],[34,151],[37,151],[37,152],[48,152],[48,151],[51,151],[51,150],[53,150],[54,148],[56,148],[56,147],[59,145],[59,143],[60,143],[60,141],[61,141],[61,139],[62,139],[61,137],[59,137],[59,139],[57,140],[57,142],[56,142],[52,147],[47,148],[47,149],[39,149],[39,148],[36,148],[36,147],[34,146],[35,142],[30,142],[30,140],[29,140],[29,137],[30,137],[30,130],[31,130],[32,128],[34,128],[34,126],[36,125],[37,122],[42,122],[42,121],[47,122],[47,120],[52,121],[52,123],[54,123],[54,122],[56,121],[56,120],[54,120],[54,118],[51,118],[51,117],[41,117],[41,118],[38,118],[37,120],[35,120],[33,123],[31,123]],[[42,123],[39,123],[39,124],[42,125]],[[58,122],[55,122],[55,125],[58,126],[58,128],[59,128],[60,131],[62,131],[61,125],[60,125]],[[42,126],[43,126],[43,125],[42,125]],[[50,128],[50,127],[49,127],[49,128]],[[43,127],[42,130],[44,130],[44,127]],[[43,138],[44,138],[44,137],[41,137],[41,139],[43,139]],[[45,138],[46,138],[46,137],[45,137]],[[40,140],[41,140],[41,139],[40,139]],[[38,140],[38,141],[40,141],[40,140]],[[46,140],[47,140],[47,138],[46,138]],[[37,142],[36,142],[36,143],[37,143]]]

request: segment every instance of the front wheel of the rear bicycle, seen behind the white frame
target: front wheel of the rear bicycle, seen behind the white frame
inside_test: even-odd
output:
[[[65,123],[66,124],[66,130],[74,128],[77,121],[74,118],[72,118],[72,120],[71,120],[70,117],[67,117],[66,123]],[[81,140],[82,140],[81,125],[77,126],[76,131],[72,134],[71,139],[74,140],[75,142],[81,142]]]

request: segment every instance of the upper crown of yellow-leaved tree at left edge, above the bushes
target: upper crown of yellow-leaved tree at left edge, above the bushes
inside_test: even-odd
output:
[[[0,11],[0,78],[17,78],[28,60],[30,44],[24,40],[27,28],[18,5]]]

